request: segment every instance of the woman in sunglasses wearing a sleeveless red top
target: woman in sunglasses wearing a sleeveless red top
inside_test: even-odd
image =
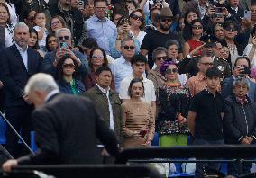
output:
[[[183,48],[183,56],[187,57],[187,54],[189,54],[192,50],[196,49],[199,46],[202,46],[204,43],[200,40],[200,38],[203,35],[203,24],[200,22],[200,20],[193,20],[191,22],[191,39],[187,40],[184,44]],[[201,55],[202,51],[199,50],[195,56]]]

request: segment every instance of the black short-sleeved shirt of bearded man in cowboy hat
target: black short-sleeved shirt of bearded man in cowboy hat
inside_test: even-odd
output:
[[[153,50],[158,47],[164,47],[165,43],[168,40],[177,40],[179,43],[179,47],[181,47],[181,42],[178,35],[171,31],[169,32],[169,34],[161,33],[160,31],[151,31],[147,33],[144,39],[142,40],[141,49],[146,49],[149,51],[148,62],[151,68],[154,66],[154,61],[152,60]],[[182,49],[179,48],[178,53],[181,53],[181,52],[182,52]]]

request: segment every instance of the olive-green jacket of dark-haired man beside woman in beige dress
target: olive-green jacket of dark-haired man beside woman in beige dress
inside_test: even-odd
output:
[[[102,115],[105,121],[109,125],[109,110],[108,110],[108,102],[105,93],[103,93],[97,85],[87,90],[84,93],[84,96],[91,99],[96,106],[97,111]],[[114,93],[113,90],[109,91],[109,99],[112,105],[113,116],[114,116],[114,133],[118,138],[120,144],[122,143],[122,135],[121,135],[121,124],[122,124],[122,109],[121,109],[121,100],[118,94]]]

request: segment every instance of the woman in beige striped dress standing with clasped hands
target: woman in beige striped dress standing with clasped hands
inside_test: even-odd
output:
[[[133,78],[128,93],[131,99],[122,104],[123,148],[150,147],[155,132],[155,119],[151,104],[141,100],[144,94],[142,80]]]

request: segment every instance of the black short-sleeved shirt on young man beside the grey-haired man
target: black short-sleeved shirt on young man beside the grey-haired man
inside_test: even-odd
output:
[[[203,90],[192,99],[190,111],[197,112],[195,120],[195,138],[206,140],[223,139],[224,98],[220,93],[215,97],[212,93]]]

